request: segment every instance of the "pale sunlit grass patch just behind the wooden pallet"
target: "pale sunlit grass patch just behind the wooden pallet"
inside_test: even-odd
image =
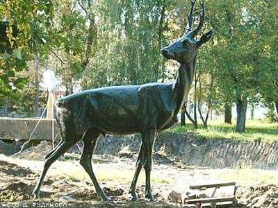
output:
[[[236,181],[237,184],[277,184],[277,171],[259,169],[234,169],[218,175],[218,179],[225,181]]]

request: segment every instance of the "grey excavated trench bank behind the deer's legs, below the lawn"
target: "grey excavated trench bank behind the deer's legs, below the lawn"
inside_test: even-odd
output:
[[[137,152],[139,146],[138,135],[107,135],[99,139],[95,154],[117,155],[122,149]],[[181,135],[167,132],[156,139],[154,152],[196,166],[278,169],[278,142],[206,139],[197,137],[195,133]]]

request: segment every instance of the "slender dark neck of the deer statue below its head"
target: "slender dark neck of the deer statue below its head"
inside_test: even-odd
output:
[[[173,91],[177,103],[177,107],[174,112],[175,115],[179,113],[183,103],[186,101],[190,86],[195,76],[196,60],[197,56],[193,62],[181,63],[179,66],[179,73],[175,82],[173,83]]]

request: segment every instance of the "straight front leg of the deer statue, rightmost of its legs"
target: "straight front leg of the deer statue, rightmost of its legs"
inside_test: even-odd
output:
[[[149,130],[142,134],[142,154],[144,158],[144,169],[146,174],[145,197],[154,202],[154,196],[151,189],[151,171],[152,171],[152,149],[156,138],[156,130]]]

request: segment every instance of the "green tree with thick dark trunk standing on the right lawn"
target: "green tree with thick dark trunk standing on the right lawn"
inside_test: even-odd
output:
[[[277,7],[272,1],[215,0],[207,3],[208,21],[215,30],[211,48],[214,66],[210,73],[215,78],[218,103],[226,103],[225,106],[236,103],[237,132],[245,131],[247,104],[259,101],[258,93],[265,88],[267,74],[273,69],[261,61],[267,59],[265,43],[269,35],[263,32],[263,27],[273,33],[273,24],[269,22],[272,20],[266,18],[269,14],[266,10],[270,7],[270,14],[275,17]],[[272,94],[273,88],[270,91]]]

